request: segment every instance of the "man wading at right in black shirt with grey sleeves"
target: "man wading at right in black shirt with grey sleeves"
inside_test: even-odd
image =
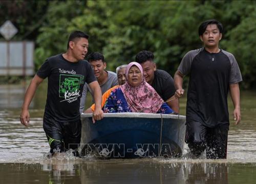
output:
[[[206,150],[210,159],[226,158],[229,114],[228,90],[234,105],[234,120],[241,120],[239,82],[242,76],[234,56],[219,49],[223,26],[211,19],[199,27],[204,48],[189,51],[174,76],[176,93],[180,98],[183,77],[190,74],[186,106],[185,142],[198,157]]]

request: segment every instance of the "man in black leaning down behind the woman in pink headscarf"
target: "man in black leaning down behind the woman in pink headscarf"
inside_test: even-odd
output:
[[[157,70],[154,63],[154,54],[150,51],[141,51],[136,55],[135,61],[143,67],[146,82],[150,84],[158,95],[170,108],[178,112],[178,100],[175,99],[175,86],[172,76],[163,70]]]

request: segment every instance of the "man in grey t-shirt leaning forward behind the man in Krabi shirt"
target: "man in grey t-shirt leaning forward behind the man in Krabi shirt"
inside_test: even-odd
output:
[[[97,78],[97,81],[101,88],[101,93],[105,93],[106,90],[110,89],[111,87],[118,85],[116,73],[111,71],[105,71],[106,62],[104,60],[104,56],[98,52],[91,53],[88,56],[88,60],[94,70],[94,74]],[[82,97],[80,101],[80,113],[84,110],[84,105],[86,103],[86,96],[87,93],[92,94],[92,90],[89,85],[86,83],[83,86]],[[94,100],[93,100],[94,103]]]

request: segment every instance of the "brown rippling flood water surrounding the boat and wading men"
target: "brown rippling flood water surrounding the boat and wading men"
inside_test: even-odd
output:
[[[30,106],[30,126],[19,122],[27,85],[0,85],[0,183],[256,183],[255,91],[241,91],[242,122],[232,120],[227,159],[113,159],[59,155],[47,158],[42,129],[47,85],[39,86]],[[180,112],[185,113],[180,100]],[[89,102],[89,100],[88,100]],[[184,154],[188,152],[185,145]]]

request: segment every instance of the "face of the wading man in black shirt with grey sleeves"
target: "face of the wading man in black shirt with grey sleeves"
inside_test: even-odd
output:
[[[222,34],[216,24],[208,25],[200,39],[204,42],[206,47],[219,47],[219,41],[222,38]]]

